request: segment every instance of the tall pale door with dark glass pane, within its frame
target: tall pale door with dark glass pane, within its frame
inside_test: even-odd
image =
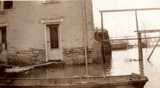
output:
[[[63,57],[59,26],[60,24],[46,24],[48,61],[59,61]]]

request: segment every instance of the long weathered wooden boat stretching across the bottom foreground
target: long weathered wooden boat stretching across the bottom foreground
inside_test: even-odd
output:
[[[143,88],[147,77],[136,74],[109,77],[1,78],[1,88]]]

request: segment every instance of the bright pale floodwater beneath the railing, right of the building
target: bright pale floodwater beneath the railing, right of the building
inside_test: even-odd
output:
[[[150,63],[147,58],[152,48],[143,49],[144,56],[144,72],[149,81],[144,88],[159,88],[160,87],[160,47],[157,47],[150,58]],[[111,73],[113,75],[139,73],[139,62],[137,48],[114,51],[113,52],[113,64]]]

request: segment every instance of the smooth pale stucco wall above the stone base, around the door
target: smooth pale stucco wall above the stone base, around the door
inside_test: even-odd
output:
[[[8,11],[9,49],[44,48],[43,19],[63,18],[63,47],[82,46],[81,0],[42,4],[31,1],[15,1],[14,8]],[[12,40],[12,41],[10,41]]]

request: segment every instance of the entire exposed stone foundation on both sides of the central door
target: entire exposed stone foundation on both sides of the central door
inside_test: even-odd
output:
[[[85,63],[85,49],[83,47],[63,49],[63,58],[65,64],[84,64]],[[89,48],[87,50],[88,63],[95,63],[100,58],[97,56],[97,50]],[[44,49],[29,49],[29,50],[9,50],[8,64],[12,65],[33,65],[45,62]]]

